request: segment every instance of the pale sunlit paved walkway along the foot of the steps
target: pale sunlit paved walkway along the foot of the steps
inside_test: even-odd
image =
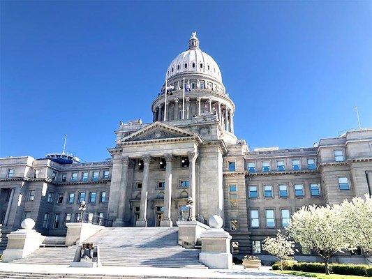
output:
[[[121,275],[130,278],[226,278],[226,279],[302,279],[301,277],[272,273],[269,266],[260,270],[245,270],[242,266],[233,269],[175,269],[156,267],[124,267],[103,266],[96,269],[55,266],[43,264],[8,264],[0,263],[0,271],[15,271],[24,273],[54,273],[54,274],[89,274],[97,276]]]

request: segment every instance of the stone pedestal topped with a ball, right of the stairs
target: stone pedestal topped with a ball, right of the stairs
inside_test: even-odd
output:
[[[209,226],[206,232],[200,234],[202,240],[202,252],[199,254],[199,262],[211,269],[231,269],[232,255],[230,241],[232,237],[222,229],[221,216],[214,215],[209,218]]]

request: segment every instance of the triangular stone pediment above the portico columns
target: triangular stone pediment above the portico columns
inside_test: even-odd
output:
[[[119,143],[166,140],[179,137],[198,137],[198,135],[181,128],[169,126],[162,122],[155,122],[147,127],[137,130],[137,132],[132,133],[131,135],[127,135],[119,140]]]

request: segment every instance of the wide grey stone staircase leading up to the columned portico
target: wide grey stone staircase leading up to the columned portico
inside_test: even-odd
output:
[[[87,241],[100,246],[103,266],[202,268],[198,249],[178,245],[178,227],[104,227]],[[45,247],[13,263],[66,264],[76,246]]]

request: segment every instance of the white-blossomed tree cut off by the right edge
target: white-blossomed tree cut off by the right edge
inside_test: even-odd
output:
[[[372,196],[353,197],[350,202],[345,199],[334,209],[341,211],[344,229],[351,247],[363,250],[366,260],[372,262]]]

